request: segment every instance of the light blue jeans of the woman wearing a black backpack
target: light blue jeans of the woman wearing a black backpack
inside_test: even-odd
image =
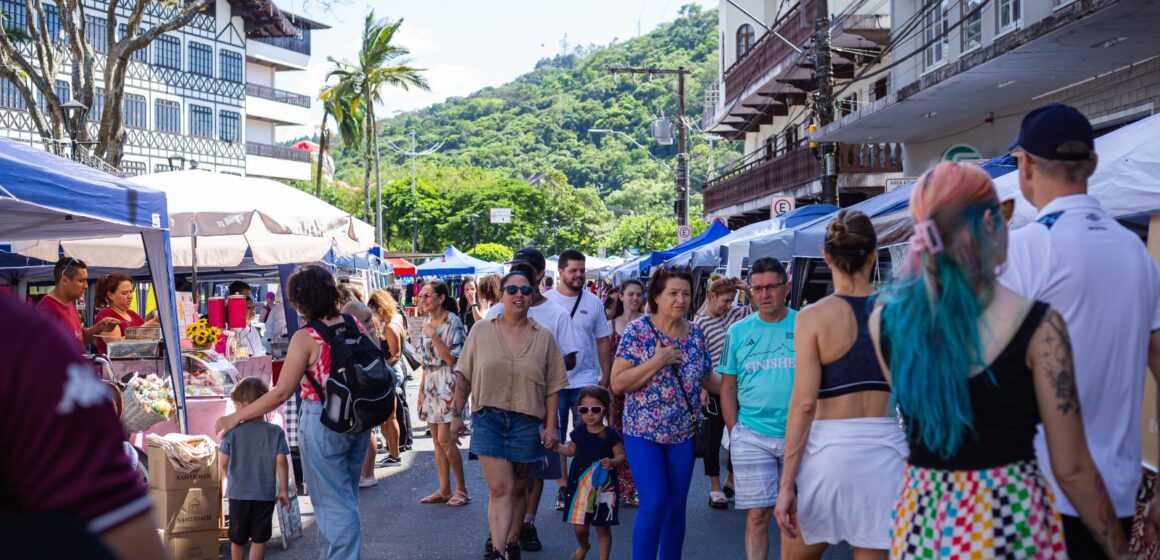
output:
[[[318,558],[357,560],[362,552],[358,477],[370,430],[339,434],[322,426],[321,413],[321,402],[304,399],[298,426],[306,486],[318,521]]]

